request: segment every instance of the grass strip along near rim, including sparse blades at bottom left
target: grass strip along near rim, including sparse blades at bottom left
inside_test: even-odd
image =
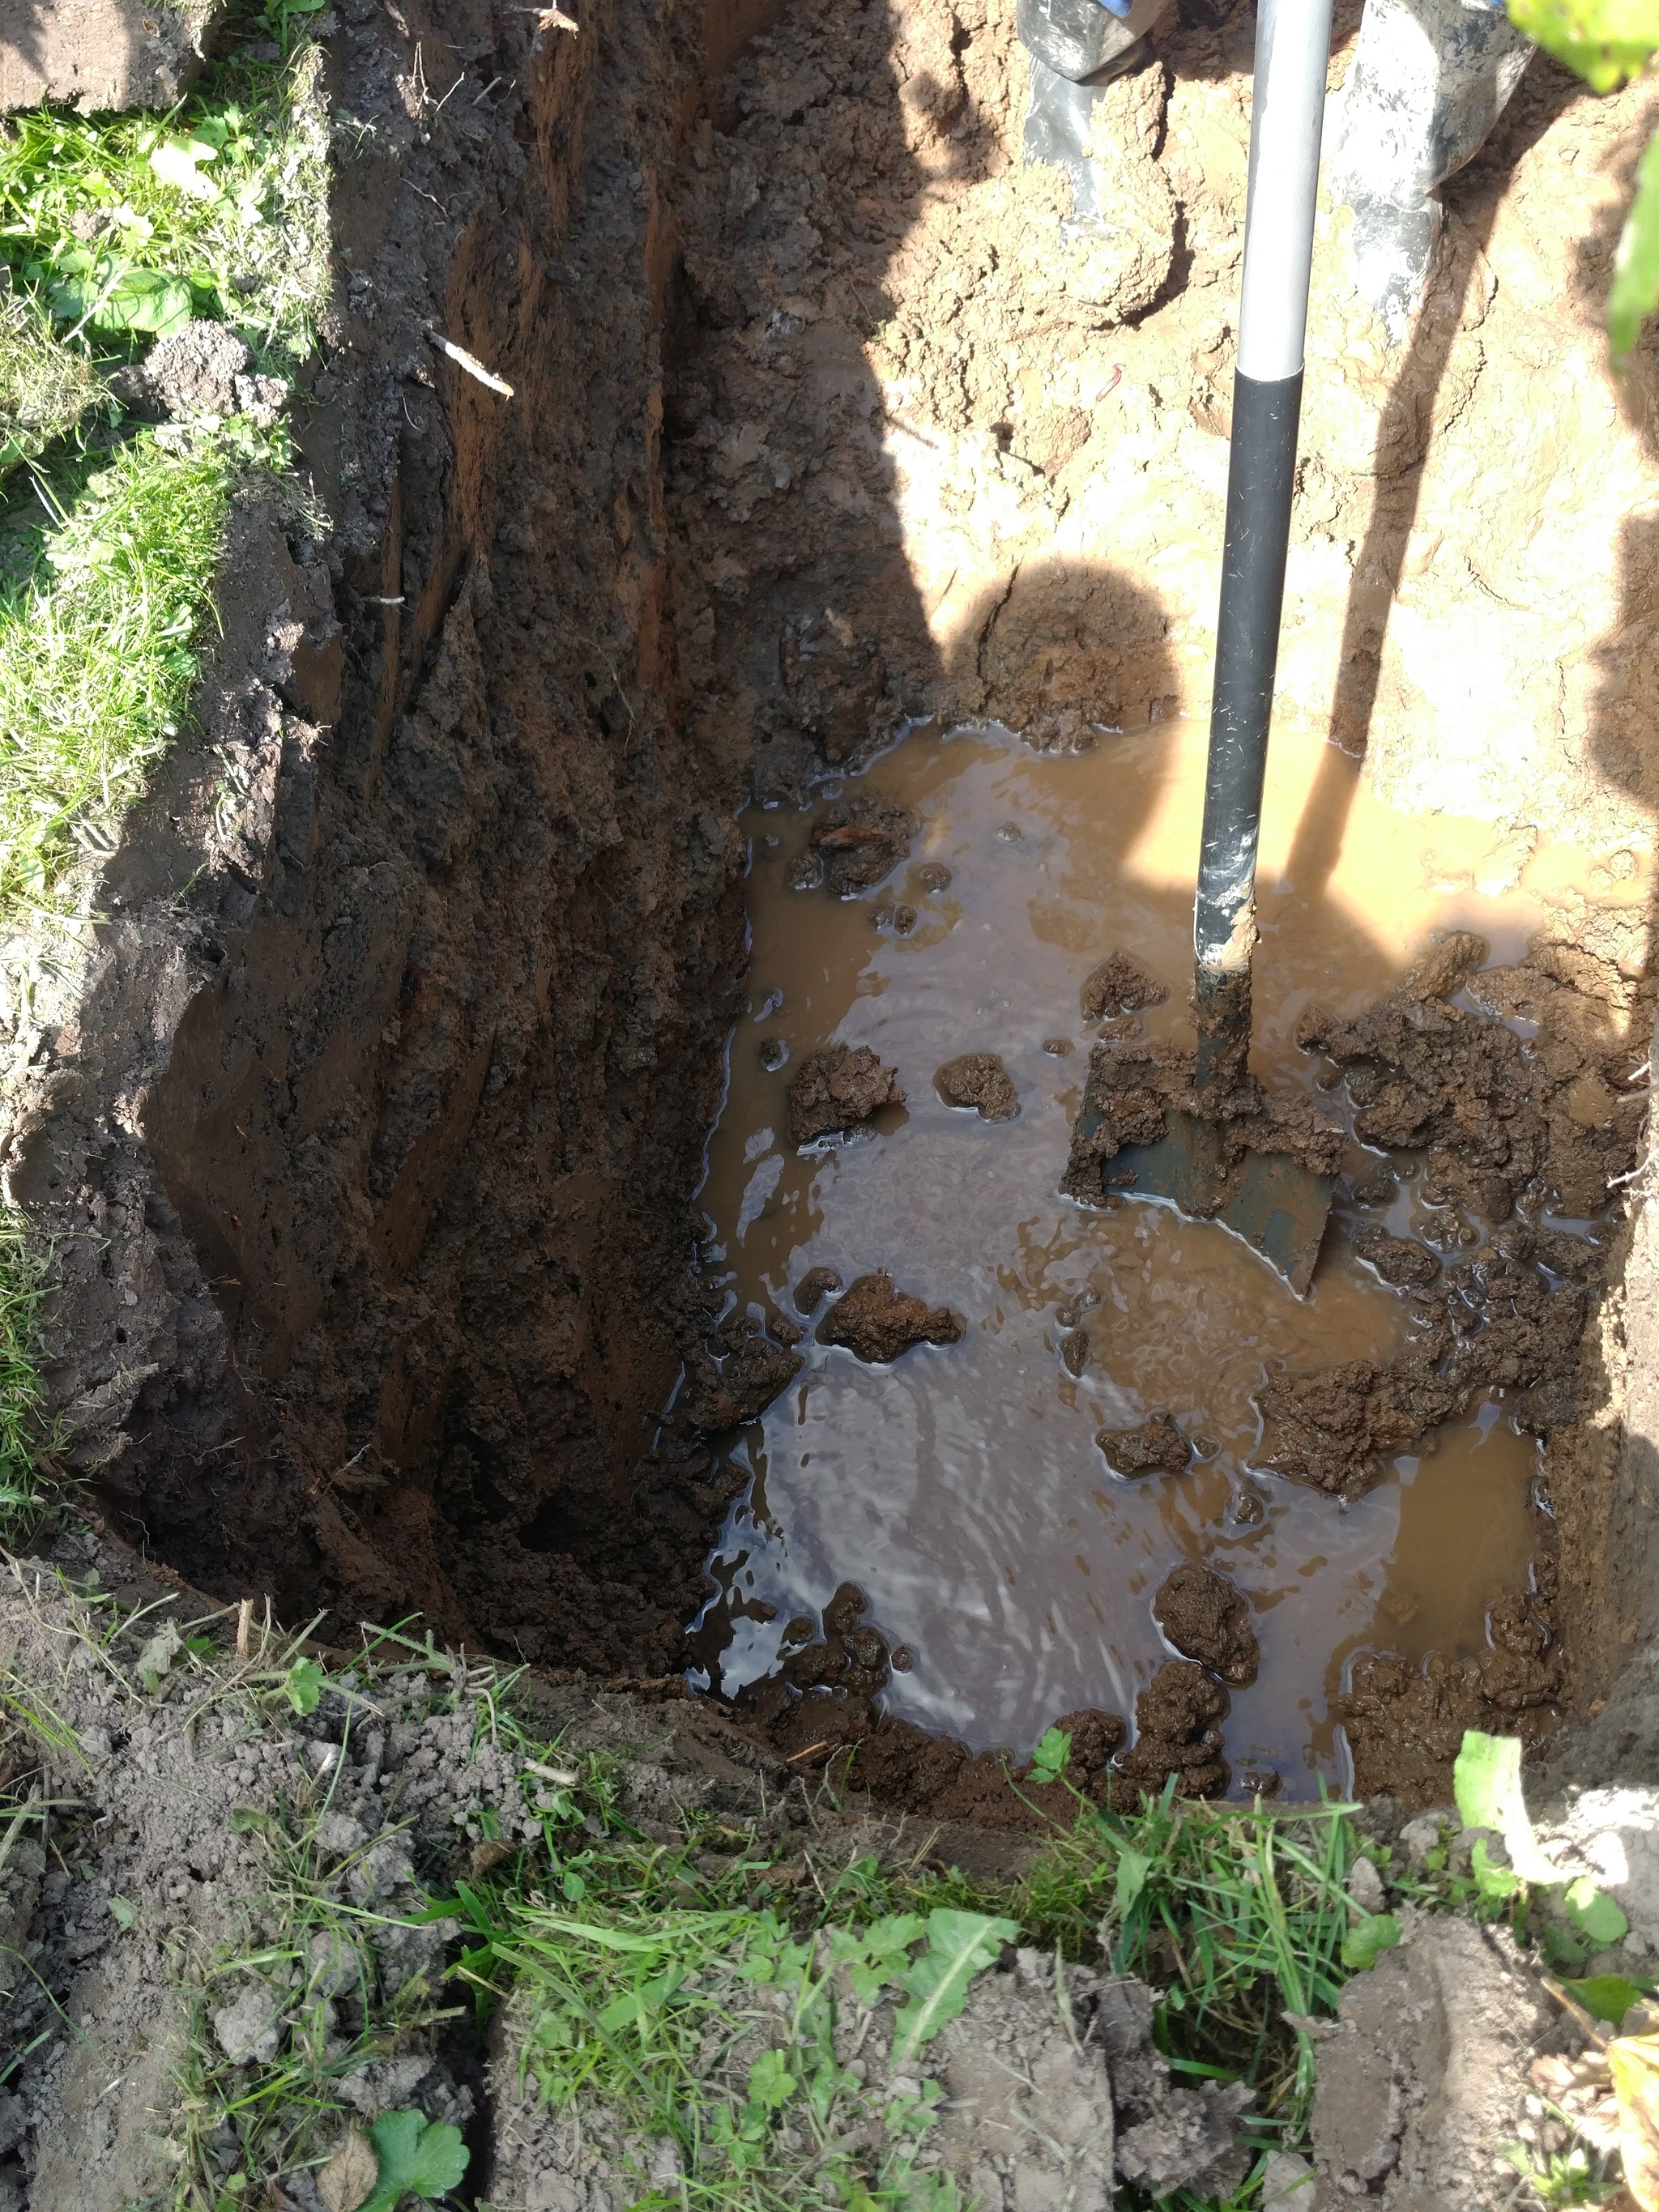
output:
[[[268,1940],[190,1969],[195,2028],[168,2128],[177,2212],[230,2212],[265,2177],[319,2168],[352,2124],[343,2081],[354,2068],[449,2037],[476,2048],[502,2006],[538,2093],[622,2143],[624,2163],[637,2152],[630,2205],[958,2212],[956,2183],[929,2168],[940,2088],[927,2046],[902,2068],[914,2093],[876,2108],[836,2064],[818,1997],[827,1964],[849,1969],[874,2004],[883,1989],[891,2000],[927,1986],[947,1955],[967,1962],[964,1991],[1004,1938],[1150,1980],[1175,2081],[1243,2077],[1263,2152],[1305,2141],[1310,2044],[1281,2015],[1332,2011],[1345,1980],[1343,1942],[1363,1918],[1343,1891],[1360,1849],[1349,1807],[1274,1816],[1161,1801],[1135,1818],[1091,1807],[1020,1882],[922,1858],[845,1865],[834,1834],[714,1812],[684,1814],[672,1840],[653,1840],[626,1812],[626,1754],[549,1743],[515,1714],[515,1677],[489,1663],[467,1668],[396,1632],[341,1674],[288,1659],[239,1694],[257,1690],[274,1714],[283,1701],[314,1710],[338,1697],[385,1719],[389,1679],[425,1674],[400,1710],[465,1701],[476,1741],[489,1736],[518,1765],[540,1836],[495,1838],[484,1807],[462,1858],[473,1871],[431,1867],[429,1907],[398,1918],[354,1905],[316,1849],[327,1783],[250,1816],[268,1865]],[[376,1949],[387,1929],[418,1924],[451,1933],[447,1966],[387,1991]],[[232,2064],[208,2020],[250,1980],[279,1993],[288,2028],[272,2059]],[[356,1993],[349,2024],[334,2020],[338,1989]],[[849,2150],[854,2130],[863,2148]],[[664,2146],[672,2183],[650,2172]],[[1234,2205],[1252,2203],[1259,2168]]]

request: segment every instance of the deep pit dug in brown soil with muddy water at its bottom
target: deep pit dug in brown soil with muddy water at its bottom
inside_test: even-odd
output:
[[[1588,1703],[1650,1610],[1590,1294],[1562,1303],[1548,1420],[1478,1394],[1343,1502],[1263,1469],[1263,1374],[1407,1343],[1367,1228],[1451,1274],[1495,1223],[1400,1152],[1367,1208],[1352,1148],[1298,1303],[1214,1225],[1060,1197],[1079,980],[1133,956],[1170,991],[1146,1031],[1186,1035],[1250,11],[1190,0],[1113,88],[1110,265],[1051,250],[1000,0],[641,9],[535,51],[511,11],[341,18],[341,111],[383,137],[338,164],[358,305],[299,427],[336,529],[228,575],[210,728],[263,799],[226,856],[208,748],[166,765],[97,987],[31,1013],[9,1093],[108,1522],[294,1624],[420,1615],[739,1703],[854,1582],[909,1655],[894,1723],[1015,1754],[1079,1705],[1133,1719],[1150,1593],[1203,1559],[1263,1646],[1234,1785],[1345,1785],[1345,1683],[1396,1655],[1407,1721],[1356,1776],[1425,1803],[1464,1712],[1515,1719],[1447,1681],[1493,1606],[1515,1626],[1553,1502],[1571,1666],[1522,1719]],[[1338,7],[1334,84],[1356,27]],[[442,113],[427,33],[476,80]],[[1577,1026],[1537,1053],[1619,1119],[1579,1133],[1573,1219],[1517,1203],[1615,1287],[1601,1206],[1652,1015],[1659,372],[1648,347],[1615,394],[1599,316],[1648,97],[1533,64],[1447,190],[1398,352],[1321,217],[1256,960],[1256,1073],[1347,1115],[1294,1044],[1314,1002],[1374,1004],[1436,931],[1489,964],[1542,933]],[[434,369],[434,325],[513,403]],[[305,679],[272,661],[279,606]],[[836,781],[922,816],[845,902],[790,887]],[[830,1040],[907,1106],[801,1155],[783,1102]],[[1018,1119],[936,1095],[973,1051]],[[964,1340],[825,1349],[794,1303],[818,1265],[889,1267]],[[675,1378],[734,1314],[805,1327],[807,1367],[743,1433],[688,1433]],[[1192,1464],[1113,1475],[1095,1429],[1155,1409]]]

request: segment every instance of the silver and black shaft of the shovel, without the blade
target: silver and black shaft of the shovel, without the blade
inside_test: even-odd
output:
[[[1192,945],[1199,1088],[1250,1048],[1256,841],[1285,604],[1332,0],[1261,0],[1210,768]]]

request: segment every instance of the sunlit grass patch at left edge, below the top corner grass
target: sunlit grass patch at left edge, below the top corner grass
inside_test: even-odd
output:
[[[215,628],[237,456],[139,431],[0,586],[0,918],[66,907],[177,734]]]

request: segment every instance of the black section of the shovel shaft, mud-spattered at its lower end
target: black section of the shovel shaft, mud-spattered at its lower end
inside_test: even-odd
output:
[[[1206,993],[1206,971],[1237,971],[1250,962],[1261,785],[1279,670],[1301,400],[1301,369],[1274,383],[1239,372],[1232,385],[1228,538],[1221,557],[1199,896],[1192,914],[1199,995]]]

